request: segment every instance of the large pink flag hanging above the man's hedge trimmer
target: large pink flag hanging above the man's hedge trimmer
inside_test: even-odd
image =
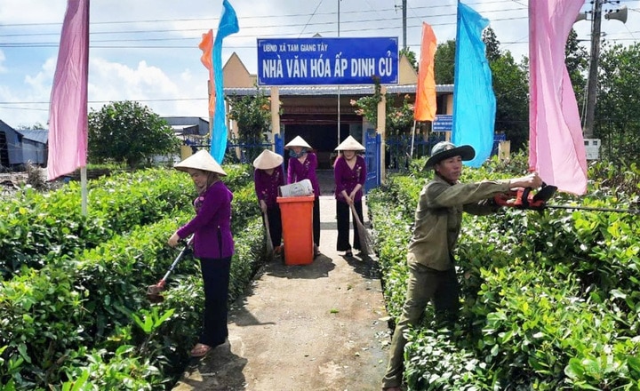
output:
[[[577,195],[587,191],[587,156],[564,45],[583,3],[529,2],[529,168]]]

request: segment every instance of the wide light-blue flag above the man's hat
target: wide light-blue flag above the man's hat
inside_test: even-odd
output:
[[[489,20],[458,3],[452,141],[476,149],[476,157],[465,162],[471,167],[481,166],[493,148],[496,102],[482,40],[487,26]]]

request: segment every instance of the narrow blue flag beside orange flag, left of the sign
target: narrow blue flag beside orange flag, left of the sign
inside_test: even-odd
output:
[[[225,120],[224,91],[222,81],[222,39],[237,33],[240,27],[237,23],[236,11],[227,0],[222,2],[224,10],[218,24],[218,34],[213,42],[213,76],[215,77],[216,106],[212,124],[211,155],[216,162],[222,164],[227,150],[227,123]]]

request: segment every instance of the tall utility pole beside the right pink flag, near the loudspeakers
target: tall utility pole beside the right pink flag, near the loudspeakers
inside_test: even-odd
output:
[[[594,0],[591,20],[591,58],[589,60],[587,87],[587,116],[583,135],[585,139],[593,138],[593,124],[596,116],[597,68],[600,58],[600,25],[602,16],[602,0]]]

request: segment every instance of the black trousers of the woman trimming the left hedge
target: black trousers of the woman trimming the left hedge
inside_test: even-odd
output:
[[[228,337],[227,301],[231,257],[200,259],[204,282],[203,330],[199,342],[217,347]]]

